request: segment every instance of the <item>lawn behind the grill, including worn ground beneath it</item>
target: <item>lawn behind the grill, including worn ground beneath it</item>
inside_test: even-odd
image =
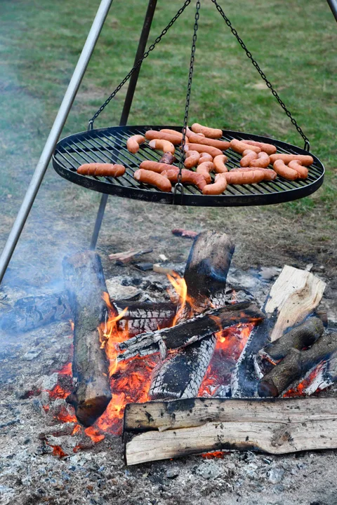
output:
[[[150,41],[182,4],[182,0],[159,0]],[[240,257],[246,264],[312,261],[326,264],[332,272],[337,231],[336,22],[325,1],[220,0],[220,4],[309,137],[312,152],[326,166],[324,186],[300,201],[250,209],[172,210],[110,198],[100,247],[111,250],[114,244],[118,250],[129,243],[136,231],[125,222],[137,213],[136,230],[141,237],[149,231],[149,219],[151,236],[161,238],[175,223],[194,229],[217,227],[241,241]],[[1,1],[0,247],[98,5],[97,0]],[[86,129],[88,119],[132,67],[146,6],[147,0],[113,1],[64,134]],[[144,62],[129,123],[183,122],[193,22],[190,5]],[[125,93],[126,87],[101,114],[96,127],[118,124]],[[303,145],[210,0],[201,2],[189,122],[194,121]],[[84,247],[99,198],[48,170],[20,241],[21,259],[15,257],[12,268],[22,268],[27,254],[41,264],[45,258],[46,264],[52,262],[55,253],[63,252],[60,243],[66,250]],[[118,234],[111,231],[116,225]],[[42,255],[46,236],[48,250],[42,248]]]

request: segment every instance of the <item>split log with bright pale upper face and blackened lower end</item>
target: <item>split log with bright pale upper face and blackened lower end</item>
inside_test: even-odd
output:
[[[253,328],[237,361],[232,376],[232,396],[256,396],[258,378],[254,358],[258,351],[312,314],[322,299],[325,286],[323,281],[306,270],[284,267],[265,301],[265,321]]]

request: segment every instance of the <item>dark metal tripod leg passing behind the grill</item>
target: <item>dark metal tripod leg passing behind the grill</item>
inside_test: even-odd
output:
[[[152,19],[154,16],[154,11],[157,6],[157,0],[149,0],[149,4],[147,6],[147,11],[145,14],[144,25],[142,29],[142,33],[140,34],[140,39],[138,43],[138,49],[136,53],[136,58],[134,65],[142,58],[145,53],[145,48],[147,44],[147,39],[150,33],[150,28],[152,25]],[[141,65],[140,65],[141,67]],[[140,72],[140,67],[136,70],[136,72],[131,76],[130,82],[128,84],[128,91],[126,93],[123,111],[121,112],[121,119],[119,121],[119,126],[125,126],[128,122],[128,114],[130,113],[131,104],[133,100],[133,95],[136,90],[138,76]],[[98,234],[100,233],[100,227],[102,225],[103,216],[105,213],[105,206],[107,205],[107,194],[103,194],[100,198],[100,206],[98,208],[98,213],[95,220],[95,227],[93,228],[93,236],[91,237],[90,248],[94,250],[98,241]]]

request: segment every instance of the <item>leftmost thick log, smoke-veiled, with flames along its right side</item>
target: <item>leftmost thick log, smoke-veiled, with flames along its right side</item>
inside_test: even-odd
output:
[[[75,389],[67,402],[74,405],[79,422],[91,426],[112,398],[107,358],[98,332],[98,326],[108,317],[103,299],[107,286],[100,257],[93,251],[67,257],[62,266],[74,318]]]

